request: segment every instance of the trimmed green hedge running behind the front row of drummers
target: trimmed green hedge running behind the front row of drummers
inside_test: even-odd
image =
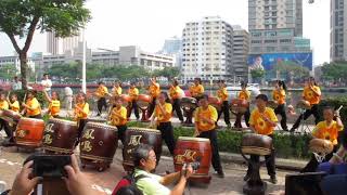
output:
[[[129,127],[149,127],[149,125],[131,121]],[[192,136],[194,129],[185,127],[175,127],[174,134],[178,136]],[[219,130],[218,145],[220,152],[240,153],[240,145],[243,133],[236,130]],[[308,144],[310,136],[308,134],[274,134],[274,148],[277,156],[281,158],[309,158],[310,153]]]

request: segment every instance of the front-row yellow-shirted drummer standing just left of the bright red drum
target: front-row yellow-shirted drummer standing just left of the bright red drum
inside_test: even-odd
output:
[[[174,156],[176,141],[174,136],[171,117],[172,105],[169,103],[169,98],[166,92],[160,92],[158,100],[156,101],[151,123],[153,126],[154,120],[156,119],[157,130],[162,132],[162,139],[165,141],[167,147]]]

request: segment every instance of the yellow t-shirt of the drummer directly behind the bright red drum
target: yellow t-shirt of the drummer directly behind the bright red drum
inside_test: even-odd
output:
[[[202,120],[200,118],[200,116],[204,116],[206,118],[209,118],[214,121],[217,121],[218,119],[218,113],[217,113],[217,109],[211,106],[211,105],[208,105],[207,109],[203,109],[203,107],[198,107],[195,113],[194,113],[194,121],[195,123],[197,125],[197,129],[198,131],[210,131],[210,130],[214,130],[216,128],[216,123],[208,123],[204,120]]]

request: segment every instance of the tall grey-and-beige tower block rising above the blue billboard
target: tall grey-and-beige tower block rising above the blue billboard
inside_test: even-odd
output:
[[[303,38],[303,0],[249,0],[250,53],[308,52]],[[303,40],[298,40],[303,39]]]

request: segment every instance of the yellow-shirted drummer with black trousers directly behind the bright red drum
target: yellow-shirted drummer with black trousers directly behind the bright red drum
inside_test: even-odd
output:
[[[194,113],[195,132],[197,138],[209,139],[213,151],[213,167],[220,178],[224,178],[218,151],[216,121],[218,118],[217,109],[208,104],[208,95],[204,94],[200,100],[200,107]]]

